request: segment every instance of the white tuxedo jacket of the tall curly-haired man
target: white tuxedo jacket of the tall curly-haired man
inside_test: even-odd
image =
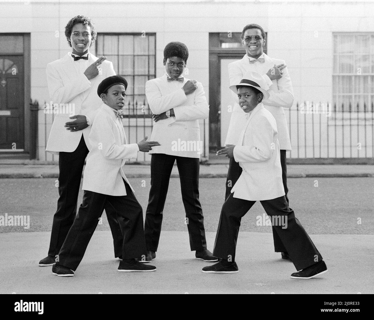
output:
[[[88,65],[91,65],[97,59],[90,53]],[[88,80],[79,71],[77,63],[79,61],[74,61],[69,52],[63,58],[47,64],[47,84],[51,101],[54,104],[74,105],[74,114],[62,113],[63,110],[61,108],[55,114],[46,146],[46,151],[53,154],[58,154],[59,151],[73,152],[76,150],[82,134],[87,147],[89,147],[88,135],[91,130],[91,124],[97,109],[102,104],[102,100],[96,92],[97,87],[105,78],[116,75],[113,64],[105,60],[100,65],[101,74],[99,73],[95,78]],[[74,119],[69,119],[69,117],[77,114],[86,116],[90,121],[90,126],[76,132],[66,130],[65,123],[74,121]]]

